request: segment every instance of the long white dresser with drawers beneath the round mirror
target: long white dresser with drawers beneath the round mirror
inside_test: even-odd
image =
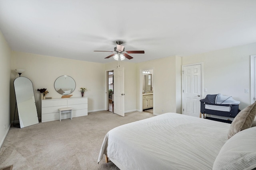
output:
[[[59,120],[59,108],[72,107],[72,117],[88,115],[88,98],[58,98],[42,100],[42,122]],[[67,119],[68,113],[62,113],[61,119]]]

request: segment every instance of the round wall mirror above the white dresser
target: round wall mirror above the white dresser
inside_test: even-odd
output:
[[[71,94],[76,88],[76,82],[70,76],[60,76],[55,80],[54,88],[59,94]]]

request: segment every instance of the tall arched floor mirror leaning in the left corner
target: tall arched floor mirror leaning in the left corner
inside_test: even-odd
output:
[[[26,77],[18,77],[14,80],[13,85],[20,128],[39,123],[34,88],[31,80]]]

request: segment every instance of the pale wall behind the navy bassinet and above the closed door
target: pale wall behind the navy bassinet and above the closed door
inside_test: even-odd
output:
[[[182,64],[203,63],[203,89],[207,94],[232,96],[240,109],[250,104],[250,55],[256,54],[256,43],[203,54],[182,57]]]

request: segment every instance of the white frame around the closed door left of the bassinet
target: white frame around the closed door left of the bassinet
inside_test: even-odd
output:
[[[201,66],[201,99],[202,97],[204,96],[203,94],[203,63],[193,63],[193,64],[185,64],[185,65],[181,65],[181,113],[184,114],[184,93],[183,93],[183,90],[184,90],[184,74],[183,74],[183,71],[184,71],[184,67],[185,66],[194,66],[194,65],[200,65]]]

